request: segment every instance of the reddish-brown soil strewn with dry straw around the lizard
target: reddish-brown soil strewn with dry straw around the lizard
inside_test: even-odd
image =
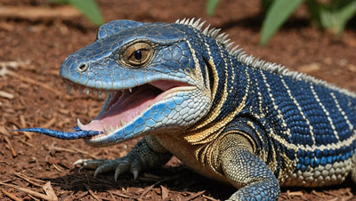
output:
[[[355,19],[348,23],[342,36],[334,36],[313,28],[301,6],[270,43],[260,47],[263,15],[259,1],[222,0],[212,17],[206,16],[206,1],[156,3],[98,1],[106,21],[173,22],[202,18],[213,27],[223,28],[231,41],[248,54],[356,90]],[[52,11],[57,7],[44,0],[3,0],[0,11],[2,6],[16,6],[19,13],[27,11],[26,8]],[[93,178],[93,171],[79,171],[79,167],[72,165],[80,158],[123,157],[137,139],[109,148],[92,148],[83,141],[11,132],[27,127],[70,131],[77,125],[77,118],[90,122],[104,100],[96,94],[72,92],[69,96],[58,76],[61,61],[92,43],[97,27],[77,15],[71,19],[27,19],[19,13],[0,17],[0,199],[223,200],[236,191],[191,172],[176,158],[156,170],[141,173],[137,180],[130,173],[120,176],[118,181],[114,181],[114,173]],[[348,180],[328,188],[282,189],[279,200],[289,199],[356,200],[356,185]]]

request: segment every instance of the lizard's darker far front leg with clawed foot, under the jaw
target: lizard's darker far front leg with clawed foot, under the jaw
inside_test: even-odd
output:
[[[82,168],[95,169],[94,177],[99,173],[107,173],[115,171],[115,181],[117,177],[125,172],[130,171],[134,174],[134,179],[143,169],[150,169],[159,165],[164,165],[172,157],[166,149],[164,149],[156,138],[152,135],[147,135],[137,142],[125,157],[120,157],[114,160],[109,159],[79,159],[74,165],[82,165]]]

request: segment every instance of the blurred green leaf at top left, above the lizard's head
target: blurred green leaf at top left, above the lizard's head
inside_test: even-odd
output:
[[[92,21],[95,25],[101,26],[104,23],[101,12],[94,0],[68,0],[69,4],[76,6],[79,12],[82,12],[85,17]]]

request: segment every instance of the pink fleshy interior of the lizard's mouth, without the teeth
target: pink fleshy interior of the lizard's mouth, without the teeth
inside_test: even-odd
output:
[[[153,104],[165,98],[166,92],[176,86],[186,85],[177,82],[156,81],[150,84],[143,84],[132,89],[132,92],[116,92],[114,98],[109,102],[101,116],[96,117],[88,125],[80,127],[82,130],[93,130],[104,132],[106,128],[116,129],[133,120],[134,117],[149,109]]]

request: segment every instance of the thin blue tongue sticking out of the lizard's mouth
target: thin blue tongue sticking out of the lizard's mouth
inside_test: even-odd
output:
[[[54,131],[51,129],[45,129],[45,128],[22,128],[22,129],[17,129],[13,130],[14,132],[32,132],[32,133],[41,133],[45,134],[54,138],[59,138],[61,140],[77,140],[77,139],[84,139],[88,137],[92,137],[98,134],[101,134],[102,132],[98,131],[84,131],[80,130],[77,126],[73,128],[75,132],[60,132],[60,131]]]

